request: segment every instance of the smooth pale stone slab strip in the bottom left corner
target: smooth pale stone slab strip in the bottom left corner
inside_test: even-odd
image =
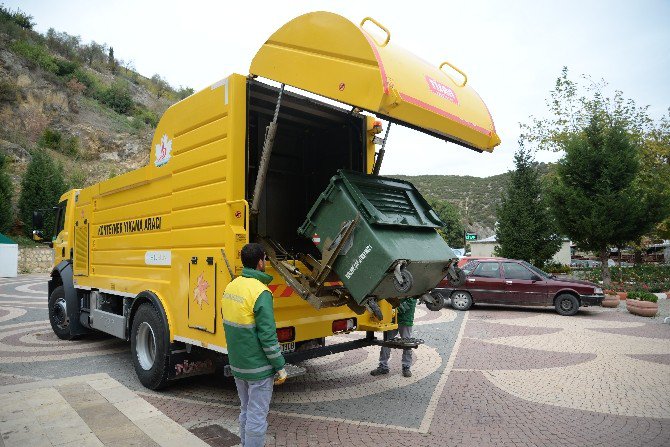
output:
[[[207,446],[107,374],[0,387],[0,446]]]

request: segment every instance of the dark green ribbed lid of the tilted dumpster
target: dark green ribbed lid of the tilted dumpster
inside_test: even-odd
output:
[[[340,178],[371,224],[440,228],[446,224],[410,182],[339,170]]]

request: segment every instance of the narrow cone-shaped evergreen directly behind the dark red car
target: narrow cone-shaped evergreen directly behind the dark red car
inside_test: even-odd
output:
[[[561,237],[548,210],[532,152],[521,145],[514,154],[514,165],[496,210],[499,245],[495,254],[542,268],[560,249]]]

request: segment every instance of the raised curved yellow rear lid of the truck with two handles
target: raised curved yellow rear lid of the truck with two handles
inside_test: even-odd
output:
[[[363,29],[378,26],[382,40]],[[372,26],[370,24],[366,26]],[[263,44],[249,72],[368,110],[476,150],[500,144],[486,104],[451,64],[435,67],[393,45],[374,19],[329,12],[297,17]],[[442,68],[462,74],[452,78]]]

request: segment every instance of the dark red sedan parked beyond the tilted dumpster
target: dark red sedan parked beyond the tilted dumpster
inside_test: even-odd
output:
[[[588,281],[559,279],[526,261],[469,258],[459,262],[465,283],[454,287],[442,280],[433,294],[451,306],[467,310],[474,303],[514,306],[553,306],[561,315],[574,315],[580,306],[600,306],[605,295]]]

